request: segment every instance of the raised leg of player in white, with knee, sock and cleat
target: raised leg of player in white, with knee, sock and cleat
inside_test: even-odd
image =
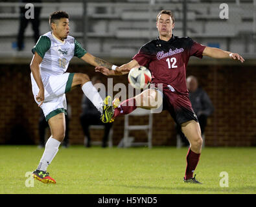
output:
[[[105,100],[102,100],[97,89],[91,83],[89,76],[83,73],[75,73],[71,89],[80,85],[84,94],[95,105],[95,107],[102,114],[102,122],[110,122],[113,116],[113,107],[111,104],[111,97],[107,96]]]

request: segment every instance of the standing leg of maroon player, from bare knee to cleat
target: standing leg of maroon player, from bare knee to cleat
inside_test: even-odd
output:
[[[203,144],[200,125],[198,122],[191,120],[181,124],[181,130],[190,143],[189,151],[187,153],[187,168],[183,180],[185,182],[201,184],[195,177],[193,177],[194,170],[200,159]]]

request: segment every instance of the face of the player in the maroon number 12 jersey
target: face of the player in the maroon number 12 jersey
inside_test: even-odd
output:
[[[169,14],[161,14],[158,17],[156,27],[160,37],[172,36],[172,29],[174,28],[174,23],[172,23],[172,17],[170,17]]]

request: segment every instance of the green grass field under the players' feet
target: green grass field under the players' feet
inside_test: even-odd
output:
[[[34,180],[26,187],[25,173],[36,169],[42,153],[36,146],[0,146],[0,193],[256,193],[253,147],[203,149],[196,168],[203,185],[183,183],[186,148],[60,147],[47,169],[57,184]],[[222,171],[229,187],[220,187]]]

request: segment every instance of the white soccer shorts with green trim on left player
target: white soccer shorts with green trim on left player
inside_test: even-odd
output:
[[[65,72],[64,74],[56,76],[41,77],[43,86],[45,87],[45,100],[41,105],[41,109],[43,110],[43,114],[45,115],[47,121],[56,114],[67,114],[67,101],[65,98],[65,93],[71,90],[74,74],[75,73]],[[39,105],[40,102],[36,100],[36,95],[39,92],[39,88],[32,73],[30,76],[34,100]]]

